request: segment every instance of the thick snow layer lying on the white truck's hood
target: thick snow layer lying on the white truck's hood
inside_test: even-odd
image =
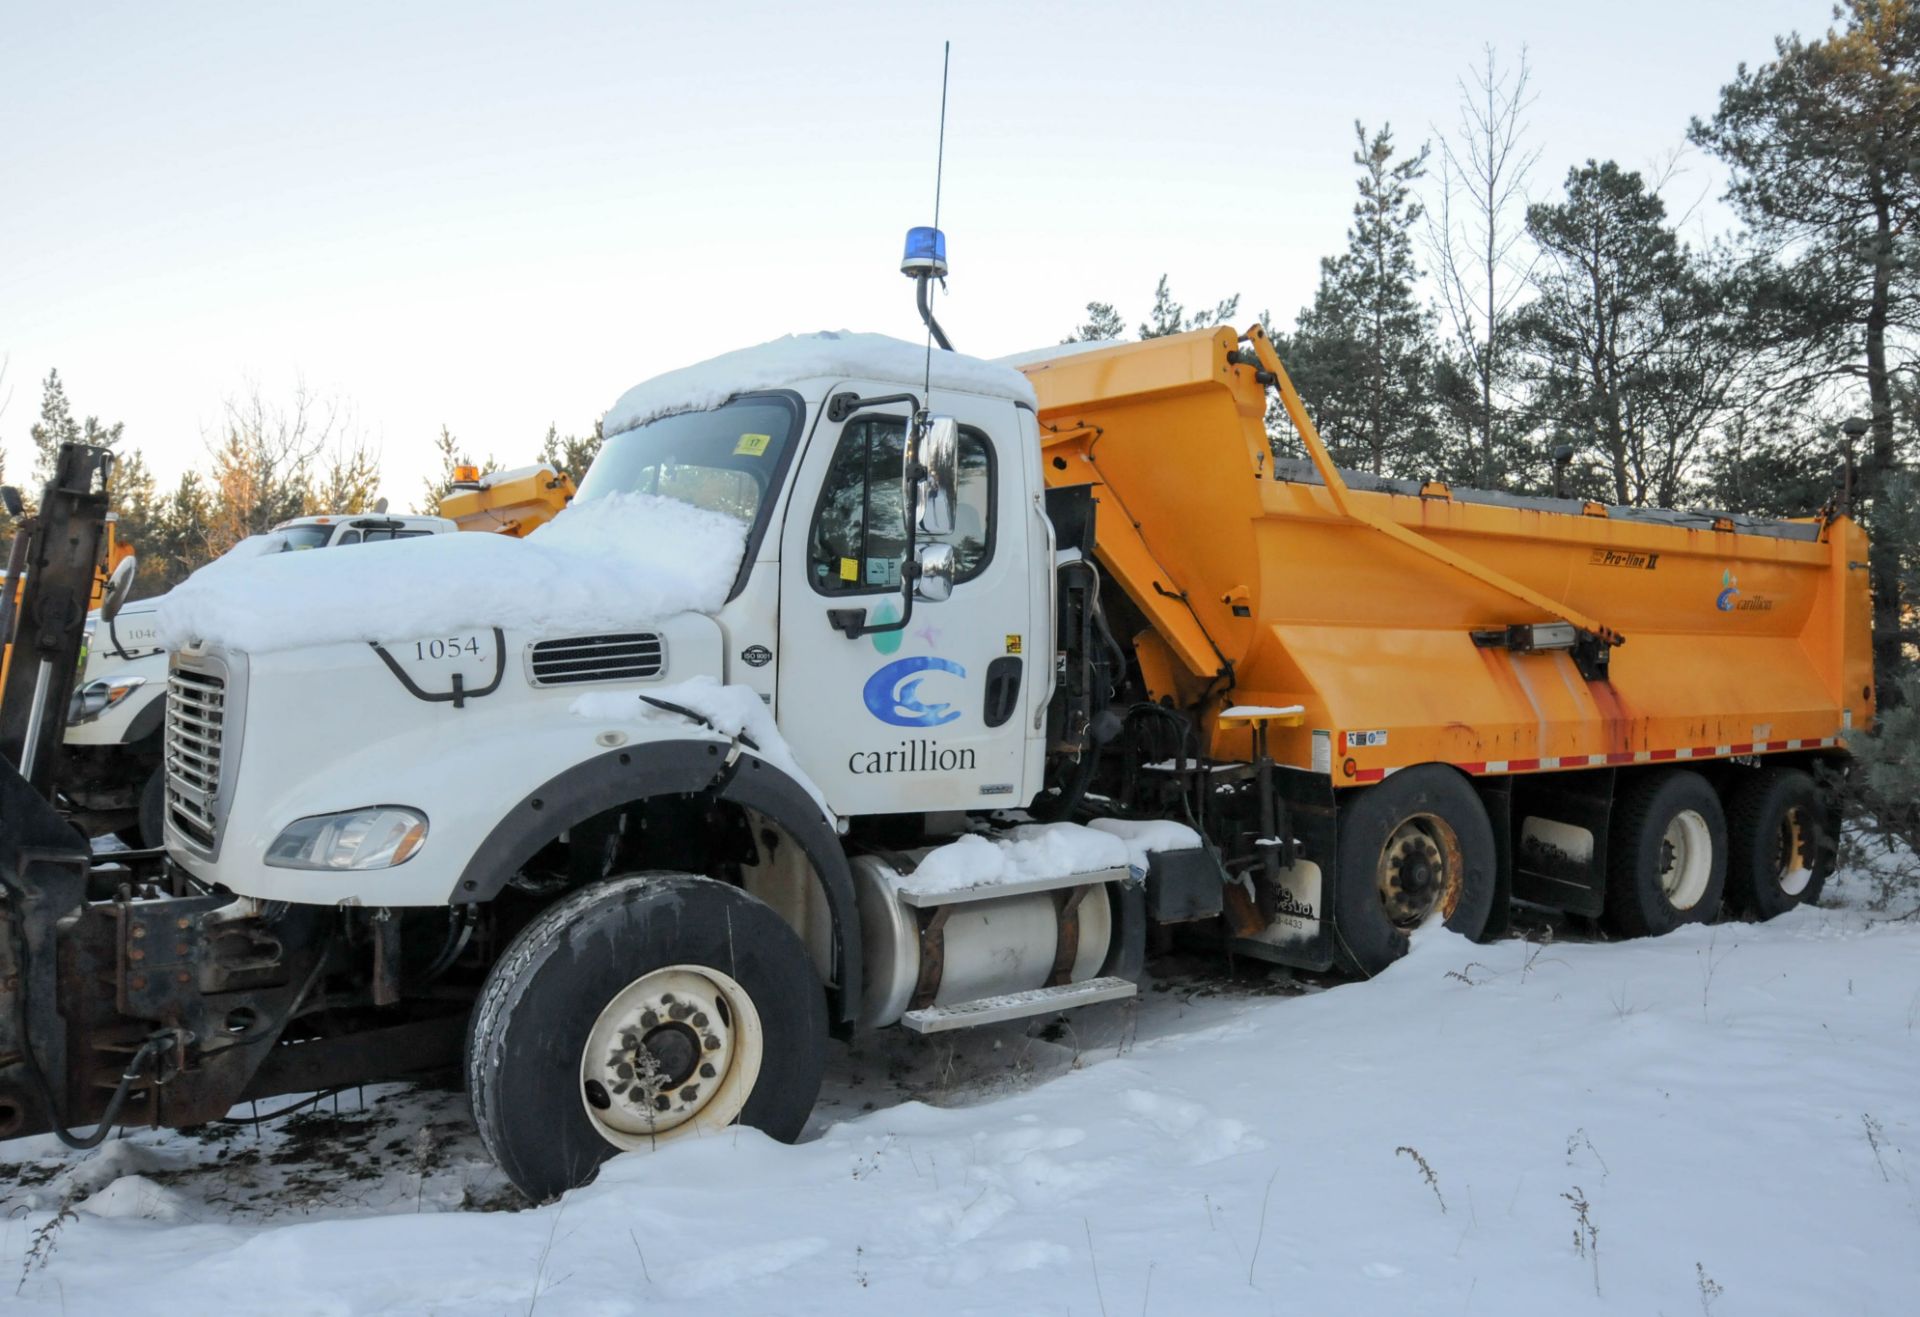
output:
[[[651,493],[574,503],[526,539],[449,534],[280,553],[242,539],[159,601],[167,649],[250,653],[476,626],[580,634],[726,603],[747,526]]]

